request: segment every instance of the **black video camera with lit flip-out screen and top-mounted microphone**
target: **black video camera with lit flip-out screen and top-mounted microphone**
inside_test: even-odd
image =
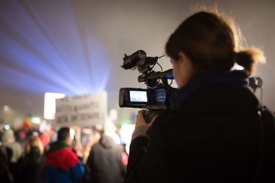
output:
[[[119,105],[121,108],[145,108],[144,118],[150,122],[156,113],[170,108],[170,96],[176,90],[168,80],[173,80],[173,69],[167,71],[153,71],[155,64],[161,57],[147,57],[143,50],[135,51],[131,56],[124,54],[124,69],[137,69],[142,75],[138,82],[144,82],[147,88],[120,88]],[[158,64],[159,65],[159,64]],[[160,66],[160,65],[159,65]],[[160,66],[162,70],[162,66]]]

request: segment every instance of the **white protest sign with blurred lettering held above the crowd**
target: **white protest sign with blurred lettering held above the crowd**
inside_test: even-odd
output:
[[[107,93],[56,99],[54,126],[79,127],[103,124],[107,117]]]

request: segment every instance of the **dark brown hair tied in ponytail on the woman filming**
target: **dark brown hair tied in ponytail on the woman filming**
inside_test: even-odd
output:
[[[234,63],[250,75],[256,61],[265,61],[263,52],[254,47],[239,52],[236,26],[218,12],[200,11],[188,17],[166,42],[166,53],[173,60],[183,51],[190,58],[195,73],[230,71]],[[257,60],[258,59],[258,60]]]

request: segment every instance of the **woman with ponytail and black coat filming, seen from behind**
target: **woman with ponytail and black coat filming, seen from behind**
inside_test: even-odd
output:
[[[178,90],[148,125],[137,114],[125,182],[253,182],[259,101],[247,78],[263,52],[239,49],[232,21],[202,10],[166,42]],[[242,71],[232,71],[234,64]]]

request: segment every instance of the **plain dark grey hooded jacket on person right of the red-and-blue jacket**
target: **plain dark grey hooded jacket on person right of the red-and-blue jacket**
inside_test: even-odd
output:
[[[87,160],[87,182],[123,182],[126,167],[122,165],[122,145],[103,135],[99,143],[91,147]]]

